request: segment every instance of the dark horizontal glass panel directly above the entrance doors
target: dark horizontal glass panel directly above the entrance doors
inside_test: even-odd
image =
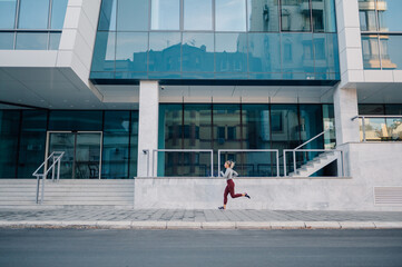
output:
[[[102,111],[50,111],[49,130],[99,131]]]

